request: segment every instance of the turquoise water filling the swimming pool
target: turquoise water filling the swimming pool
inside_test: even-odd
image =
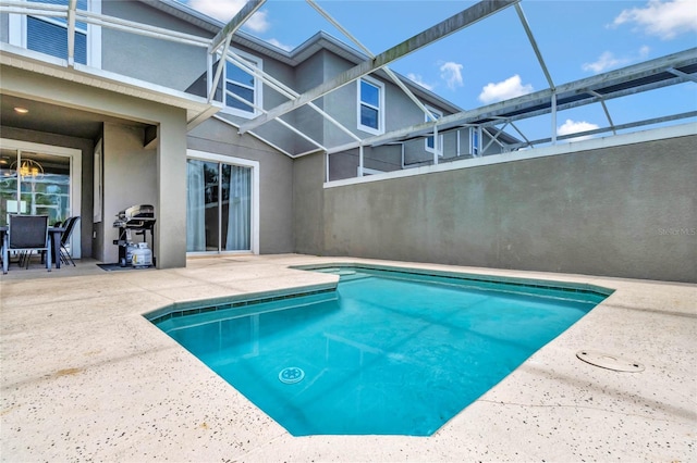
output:
[[[294,436],[428,436],[607,297],[323,272],[337,291],[154,323]]]

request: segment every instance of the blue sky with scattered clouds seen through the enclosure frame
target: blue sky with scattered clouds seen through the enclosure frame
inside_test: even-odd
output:
[[[222,22],[245,3],[180,1]],[[462,0],[316,3],[374,54],[475,4]],[[519,5],[557,86],[697,47],[697,0],[522,0]],[[243,30],[285,50],[318,30],[356,48],[303,0],[268,0]],[[408,54],[390,68],[462,109],[549,88],[514,7]],[[697,84],[611,100],[607,105],[615,124],[696,111]],[[557,123],[560,135],[609,125],[600,104],[560,112]],[[531,138],[550,136],[549,124],[549,115],[517,123]]]

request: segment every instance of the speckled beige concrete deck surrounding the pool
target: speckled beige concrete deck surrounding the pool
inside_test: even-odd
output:
[[[370,262],[615,289],[431,437],[292,437],[143,314],[178,302],[328,285],[289,268]],[[94,261],[0,279],[2,461],[697,461],[697,286],[308,255]],[[582,349],[638,362],[623,373]]]

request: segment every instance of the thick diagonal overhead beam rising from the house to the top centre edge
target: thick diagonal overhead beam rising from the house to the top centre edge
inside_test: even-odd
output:
[[[473,7],[461,11],[460,13],[449,17],[445,21],[415,35],[414,37],[383,51],[374,59],[364,61],[356,66],[344,71],[337,77],[329,79],[319,86],[306,91],[295,100],[288,101],[283,104],[271,109],[267,114],[261,114],[254,120],[240,126],[240,134],[252,130],[267,122],[286,114],[297,108],[301,108],[310,101],[314,101],[325,95],[351,84],[352,82],[370,74],[371,72],[384,67],[393,61],[396,61],[416,50],[419,50],[435,41],[438,41],[457,30],[484,20],[519,0],[485,0]]]

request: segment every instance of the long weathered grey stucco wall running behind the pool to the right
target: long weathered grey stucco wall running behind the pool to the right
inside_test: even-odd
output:
[[[684,136],[320,193],[305,178],[296,208],[322,209],[296,214],[296,249],[696,281],[696,143]]]

